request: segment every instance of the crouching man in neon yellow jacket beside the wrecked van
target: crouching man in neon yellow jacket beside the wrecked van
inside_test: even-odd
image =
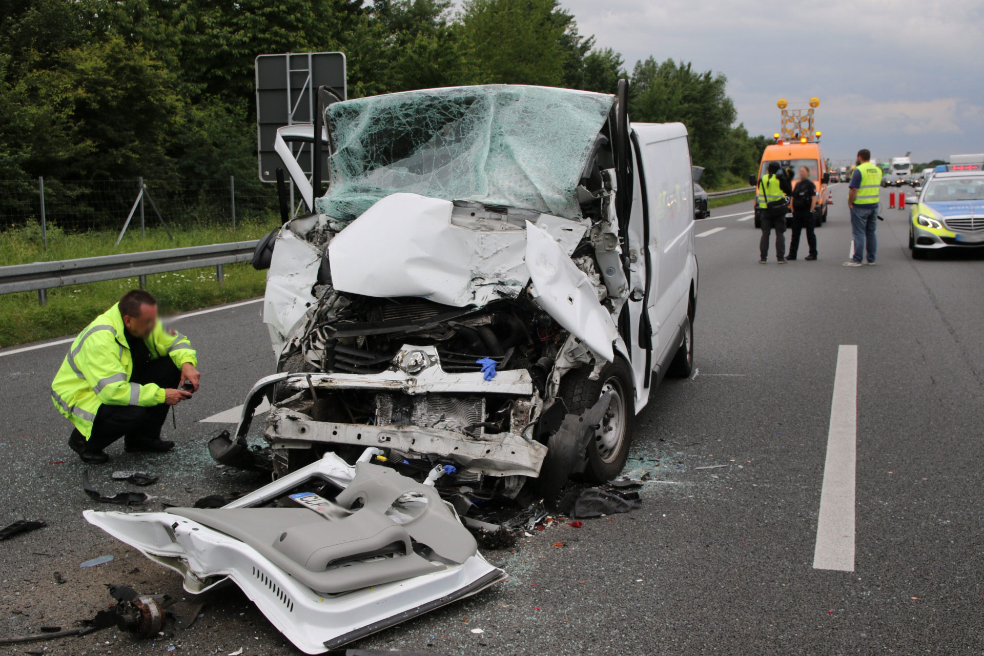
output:
[[[166,451],[167,406],[191,398],[198,364],[188,337],[157,321],[157,301],[134,289],[72,342],[51,383],[51,401],[75,425],[69,438],[83,462],[105,462],[120,438],[128,451]],[[189,391],[189,389],[191,391]]]

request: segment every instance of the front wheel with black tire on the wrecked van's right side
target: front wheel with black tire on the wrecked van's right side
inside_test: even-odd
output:
[[[601,368],[597,381],[588,378],[590,373],[590,367],[570,372],[561,379],[558,396],[569,413],[581,414],[594,405],[603,392],[613,392],[601,426],[588,442],[584,471],[591,481],[604,483],[617,478],[629,458],[636,416],[635,388],[632,369],[620,357],[616,356],[614,362]]]

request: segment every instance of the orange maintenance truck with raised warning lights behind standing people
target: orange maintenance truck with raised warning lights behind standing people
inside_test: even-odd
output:
[[[779,162],[779,167],[791,176],[793,189],[796,188],[799,180],[800,166],[810,169],[810,179],[817,185],[817,209],[820,213],[817,220],[817,227],[827,221],[827,203],[830,195],[828,184],[830,183],[830,172],[827,170],[827,160],[824,159],[824,150],[820,148],[821,132],[814,130],[813,110],[820,105],[820,100],[816,97],[810,98],[809,109],[787,109],[785,99],[780,99],[777,103],[782,110],[782,132],[772,135],[774,144],[766,147],[762,153],[762,161],[759,163],[758,175],[749,176],[749,184],[755,186],[762,179],[762,176],[769,170],[769,162]],[[762,227],[761,209],[759,204],[754,202],[755,207],[755,227]],[[790,205],[789,213],[792,214]]]

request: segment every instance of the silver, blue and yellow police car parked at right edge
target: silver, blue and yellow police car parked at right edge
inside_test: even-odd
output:
[[[909,250],[921,260],[946,248],[984,248],[984,172],[933,173],[912,206]]]

